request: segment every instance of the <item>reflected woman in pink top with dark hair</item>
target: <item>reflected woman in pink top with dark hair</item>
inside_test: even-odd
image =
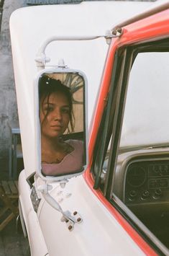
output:
[[[63,141],[63,133],[73,132],[73,102],[70,89],[47,75],[40,78],[40,125],[42,172],[61,175],[83,167],[83,143]]]

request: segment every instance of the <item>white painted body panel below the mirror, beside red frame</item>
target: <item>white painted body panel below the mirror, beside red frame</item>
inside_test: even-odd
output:
[[[56,186],[51,195],[63,210],[78,211],[83,222],[69,231],[60,221],[61,214],[47,202],[43,204],[39,219],[50,256],[145,255],[96,198],[82,176],[72,178],[64,190]]]

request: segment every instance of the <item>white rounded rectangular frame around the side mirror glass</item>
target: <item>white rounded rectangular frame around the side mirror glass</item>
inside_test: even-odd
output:
[[[84,100],[85,100],[85,105],[84,105],[84,138],[85,138],[85,145],[84,149],[85,152],[84,154],[86,155],[86,164],[83,165],[83,170],[72,173],[72,174],[67,174],[67,175],[60,175],[60,176],[44,176],[42,175],[42,167],[41,167],[41,131],[40,131],[40,117],[39,117],[39,79],[42,74],[52,74],[52,73],[76,73],[79,74],[80,76],[83,77],[84,80]],[[42,69],[41,71],[38,72],[37,76],[35,77],[34,81],[34,105],[35,105],[35,151],[36,151],[36,163],[35,163],[35,172],[37,176],[42,178],[42,180],[45,180],[47,182],[59,182],[63,180],[68,180],[72,177],[76,177],[78,175],[81,175],[85,170],[86,167],[88,166],[88,102],[87,102],[87,92],[88,92],[88,83],[86,79],[86,75],[77,69],[68,69],[68,68],[48,68],[48,69]]]

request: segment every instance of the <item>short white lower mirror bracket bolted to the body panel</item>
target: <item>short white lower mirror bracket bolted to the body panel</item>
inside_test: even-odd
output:
[[[62,187],[61,184],[60,186]],[[65,183],[64,183],[64,186],[65,186]],[[74,211],[73,215],[70,213],[70,211],[63,211],[63,209],[61,208],[57,200],[52,198],[52,196],[49,194],[48,190],[50,190],[51,188],[52,186],[47,183],[45,183],[45,185],[40,185],[39,187],[37,187],[37,189],[42,193],[47,203],[49,203],[50,206],[52,206],[52,208],[54,208],[55,210],[63,214],[61,221],[66,223],[69,231],[72,231],[74,225],[76,223],[81,223],[83,219],[81,218],[81,216],[77,211]]]

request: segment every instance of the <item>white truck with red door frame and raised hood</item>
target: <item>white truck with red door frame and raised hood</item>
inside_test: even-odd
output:
[[[168,2],[26,7],[10,33],[31,255],[169,255]],[[69,134],[83,141],[83,170],[42,172],[44,74],[70,78],[73,92],[83,81]]]

